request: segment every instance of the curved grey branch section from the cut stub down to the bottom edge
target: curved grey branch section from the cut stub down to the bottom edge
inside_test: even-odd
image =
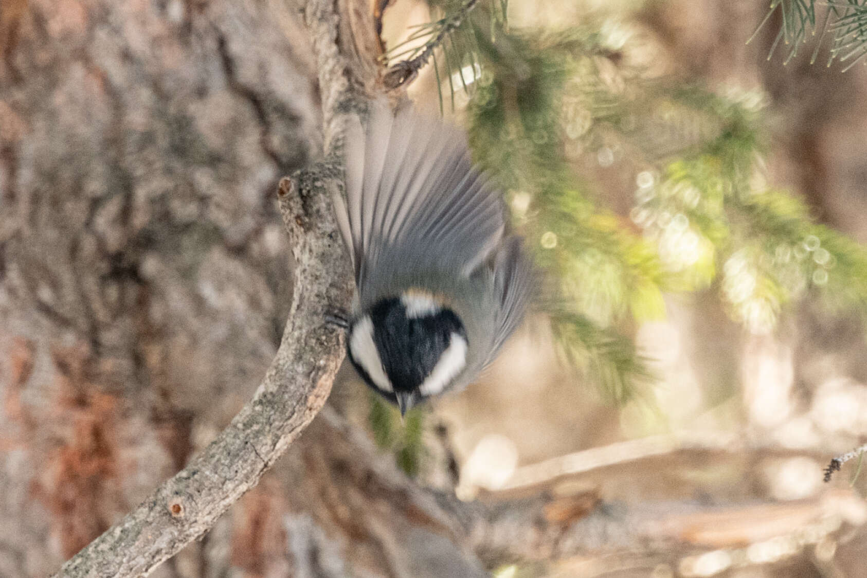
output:
[[[343,332],[325,321],[349,303],[352,283],[329,197],[313,173],[280,184],[296,259],[289,321],[256,395],[199,457],[66,562],[55,576],[142,576],[201,536],[316,415],[343,359]],[[319,182],[319,181],[317,181]]]

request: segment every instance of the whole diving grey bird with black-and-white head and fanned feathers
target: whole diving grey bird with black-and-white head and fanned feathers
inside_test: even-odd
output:
[[[347,352],[403,416],[479,377],[524,317],[535,270],[458,127],[371,101],[345,135],[333,202],[355,272]]]

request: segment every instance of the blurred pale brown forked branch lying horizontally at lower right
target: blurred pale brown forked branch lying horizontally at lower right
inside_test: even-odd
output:
[[[706,549],[746,549],[751,543],[780,538],[801,548],[840,531],[844,520],[863,523],[859,520],[867,511],[860,497],[843,488],[826,488],[813,497],[785,503],[748,497],[722,503],[676,497],[667,501],[614,499],[606,496],[610,491],[592,476],[596,468],[604,467],[604,476],[615,480],[611,484],[616,485],[617,478],[632,478],[636,471],[658,471],[663,464],[707,463],[720,451],[747,463],[769,456],[804,455],[773,446],[739,445],[725,436],[721,441],[711,436],[681,440],[671,451],[663,451],[662,437],[653,438],[643,445],[629,446],[629,459],[609,459],[604,464],[599,463],[602,456],[593,451],[573,454],[566,460],[573,466],[570,471],[557,471],[554,477],[546,478],[546,484],[534,477],[527,480],[531,485],[489,490],[480,493],[476,501],[463,502],[452,491],[414,484],[393,459],[378,455],[368,436],[333,409],[326,407],[313,427],[316,447],[329,448],[327,453],[317,454],[329,463],[315,476],[317,490],[327,486],[329,490],[323,493],[336,496],[340,508],[348,510],[343,516],[368,516],[366,523],[373,518],[382,534],[390,532],[383,539],[401,544],[401,552],[388,555],[398,558],[398,566],[401,557],[412,556],[412,550],[423,549],[425,542],[413,541],[407,527],[423,532],[429,544],[437,545],[434,558],[460,558],[466,568],[479,565],[479,561],[495,568],[507,562],[563,560],[576,555],[656,554],[664,559],[672,552],[680,553],[676,557]],[[605,448],[612,449],[623,448]],[[659,461],[663,456],[669,458],[667,462]],[[586,467],[578,467],[580,459],[587,460]],[[636,461],[643,464],[631,467]],[[635,484],[630,482],[630,490],[641,494],[642,484],[638,483],[637,490]],[[328,513],[323,516],[329,519]]]

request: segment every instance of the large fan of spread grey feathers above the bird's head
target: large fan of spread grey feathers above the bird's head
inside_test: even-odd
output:
[[[473,166],[466,137],[405,107],[370,105],[365,127],[349,127],[346,198],[335,199],[363,295],[378,263],[407,263],[468,276],[496,249],[505,228],[499,191]]]

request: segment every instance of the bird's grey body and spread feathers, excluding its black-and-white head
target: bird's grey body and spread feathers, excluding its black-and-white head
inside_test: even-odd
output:
[[[372,103],[366,127],[349,127],[345,152],[346,197],[335,207],[355,270],[356,319],[410,289],[437,295],[469,343],[447,389],[466,386],[531,296],[531,263],[505,233],[501,193],[473,166],[464,133],[409,107],[392,114]]]

